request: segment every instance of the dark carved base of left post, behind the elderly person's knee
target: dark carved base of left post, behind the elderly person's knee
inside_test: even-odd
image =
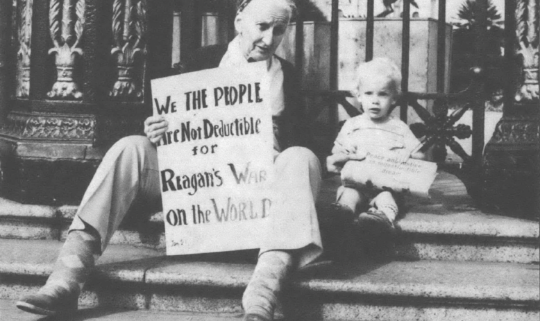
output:
[[[17,202],[77,205],[110,145],[142,132],[142,106],[116,114],[24,111],[36,104],[72,106],[19,102],[0,128],[0,195]]]

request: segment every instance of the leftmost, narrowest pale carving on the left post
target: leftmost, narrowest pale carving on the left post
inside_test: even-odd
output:
[[[32,38],[32,2],[33,0],[17,1],[17,89],[15,95],[19,98],[28,97],[30,92],[30,53]]]

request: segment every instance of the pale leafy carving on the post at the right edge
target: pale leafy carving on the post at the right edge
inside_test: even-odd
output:
[[[521,56],[521,83],[516,92],[518,103],[538,102],[539,24],[538,0],[518,0],[516,7],[517,54]]]

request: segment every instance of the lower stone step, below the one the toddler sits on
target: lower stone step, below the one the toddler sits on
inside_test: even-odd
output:
[[[0,240],[0,299],[44,284],[58,241]],[[111,245],[80,305],[183,313],[242,313],[254,265],[201,261]],[[539,266],[464,261],[314,263],[292,278],[285,320],[539,320]]]

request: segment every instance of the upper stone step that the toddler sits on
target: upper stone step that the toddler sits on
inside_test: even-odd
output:
[[[339,177],[323,182],[317,208],[328,215]],[[540,227],[535,221],[485,214],[450,174],[439,173],[430,200],[410,200],[400,217],[396,253],[401,259],[538,263]],[[63,240],[76,207],[22,205],[0,198],[0,238]],[[138,223],[128,222],[112,244],[164,248],[161,212]]]

